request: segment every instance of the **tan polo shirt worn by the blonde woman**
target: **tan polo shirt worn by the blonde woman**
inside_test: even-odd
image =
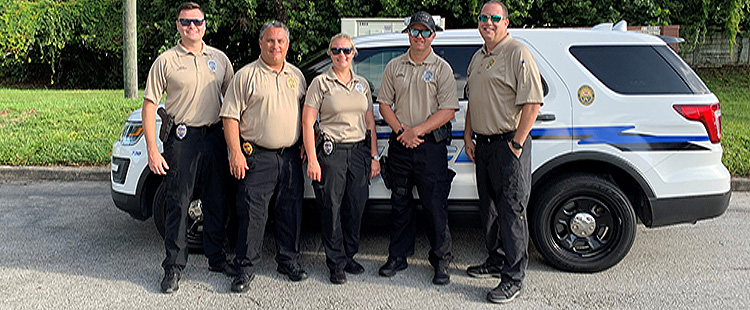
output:
[[[365,78],[352,72],[352,80],[344,84],[330,68],[310,83],[305,105],[318,110],[320,130],[335,142],[365,138],[365,113],[372,110],[372,95]]]

